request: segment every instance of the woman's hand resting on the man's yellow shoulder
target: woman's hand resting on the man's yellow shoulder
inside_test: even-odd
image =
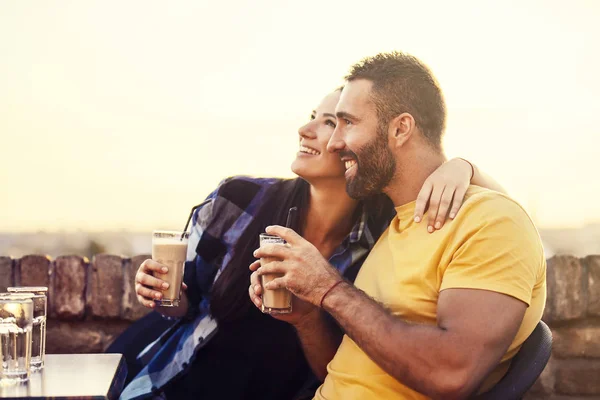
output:
[[[428,210],[427,231],[433,233],[444,226],[446,217],[456,217],[473,177],[472,168],[467,161],[453,158],[429,175],[417,197],[415,222],[421,222]]]

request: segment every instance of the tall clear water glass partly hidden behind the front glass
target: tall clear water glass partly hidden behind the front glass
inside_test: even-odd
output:
[[[45,286],[13,286],[9,293],[33,294],[33,342],[31,350],[31,370],[44,368],[46,356],[46,319],[48,315],[48,288]]]

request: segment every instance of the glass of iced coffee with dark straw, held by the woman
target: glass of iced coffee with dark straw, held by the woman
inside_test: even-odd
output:
[[[160,307],[179,306],[188,238],[189,233],[176,231],[154,231],[152,235],[152,259],[169,269],[166,274],[157,276],[169,284],[168,289],[162,290],[162,299],[155,300]]]

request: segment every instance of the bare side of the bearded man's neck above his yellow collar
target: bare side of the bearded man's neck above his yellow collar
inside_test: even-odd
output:
[[[395,207],[415,201],[425,180],[446,161],[441,152],[430,149],[408,152],[402,155],[402,164],[385,188],[385,194]]]

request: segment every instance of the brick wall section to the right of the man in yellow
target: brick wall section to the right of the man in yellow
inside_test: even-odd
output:
[[[528,399],[600,399],[600,256],[548,260],[552,357]]]

